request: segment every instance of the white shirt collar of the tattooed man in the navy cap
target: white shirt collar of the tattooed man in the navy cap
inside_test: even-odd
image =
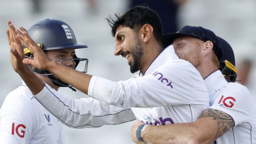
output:
[[[225,87],[228,83],[220,70],[217,70],[204,79],[209,94],[216,92],[218,89]]]

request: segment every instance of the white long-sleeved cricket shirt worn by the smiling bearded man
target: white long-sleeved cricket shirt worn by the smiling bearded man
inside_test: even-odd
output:
[[[210,103],[200,73],[180,60],[172,45],[152,62],[145,76],[119,82],[93,76],[88,95],[96,99],[68,98],[46,85],[35,98],[73,128],[119,124],[135,117],[152,125],[193,122]]]

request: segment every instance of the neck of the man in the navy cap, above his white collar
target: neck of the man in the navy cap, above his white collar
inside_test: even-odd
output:
[[[203,79],[206,78],[211,73],[213,73],[214,71],[218,70],[218,68],[213,62],[207,63],[206,61],[202,62],[202,64],[196,67],[196,69],[199,71]]]

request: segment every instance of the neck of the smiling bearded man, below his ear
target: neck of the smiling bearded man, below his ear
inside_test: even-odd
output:
[[[141,59],[141,69],[140,69],[143,75],[145,74],[149,65],[160,54],[162,50],[163,50],[163,46],[159,45],[157,42],[153,44],[147,44],[145,46],[143,56]]]

